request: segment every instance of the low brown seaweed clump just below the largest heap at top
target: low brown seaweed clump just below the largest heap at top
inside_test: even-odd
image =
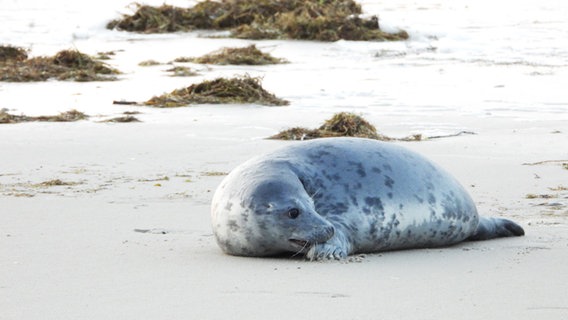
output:
[[[202,57],[180,58],[179,61],[219,65],[265,65],[286,62],[284,59],[275,58],[258,50],[254,44],[244,48],[222,48]]]

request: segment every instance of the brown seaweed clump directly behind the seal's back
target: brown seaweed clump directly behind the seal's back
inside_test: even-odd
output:
[[[269,139],[309,140],[329,137],[358,137],[383,141],[392,140],[392,138],[379,134],[377,129],[363,117],[350,112],[334,114],[318,129],[296,127],[282,131]]]

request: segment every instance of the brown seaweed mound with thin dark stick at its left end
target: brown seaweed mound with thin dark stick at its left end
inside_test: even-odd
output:
[[[153,97],[144,102],[145,105],[159,108],[209,103],[257,103],[268,106],[283,106],[289,102],[264,90],[259,78],[249,76],[204,81],[159,97]]]

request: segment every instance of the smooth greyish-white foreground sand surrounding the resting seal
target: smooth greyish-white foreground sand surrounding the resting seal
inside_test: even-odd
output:
[[[242,136],[255,135],[244,126],[258,108],[239,110]],[[567,172],[523,165],[566,159],[566,134],[550,130],[560,124],[480,121],[477,135],[401,143],[454,173],[482,214],[521,223],[525,237],[321,263],[220,251],[209,225],[218,174],[292,142],[222,139],[214,118],[193,117],[0,127],[3,319],[567,315],[567,191],[548,189],[566,186]],[[34,186],[53,179],[77,184]]]

